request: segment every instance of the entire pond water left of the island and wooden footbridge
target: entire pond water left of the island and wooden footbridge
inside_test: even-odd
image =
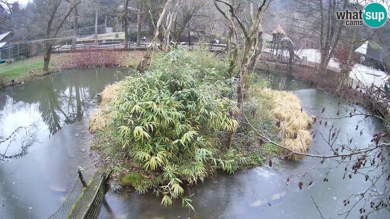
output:
[[[60,207],[76,170],[94,163],[96,94],[127,71],[62,71],[0,92],[0,218],[47,218]]]

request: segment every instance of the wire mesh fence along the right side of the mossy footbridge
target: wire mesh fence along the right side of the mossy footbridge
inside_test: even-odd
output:
[[[85,211],[82,219],[96,219],[100,212],[101,201],[104,199],[106,185],[106,173],[103,173],[99,185],[97,185],[97,190],[92,198],[92,201],[89,203],[87,210]]]

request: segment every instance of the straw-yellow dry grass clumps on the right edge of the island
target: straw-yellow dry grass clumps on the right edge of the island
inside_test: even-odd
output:
[[[301,100],[294,94],[285,91],[271,89],[262,90],[264,95],[274,100],[270,111],[272,115],[280,121],[278,137],[285,143],[285,146],[296,152],[306,153],[312,142],[310,132],[306,129],[313,124],[314,118],[309,117],[306,112],[301,112]],[[297,138],[293,139],[294,133]],[[282,150],[282,155],[290,154],[287,150]],[[288,159],[298,160],[301,155],[291,154]]]

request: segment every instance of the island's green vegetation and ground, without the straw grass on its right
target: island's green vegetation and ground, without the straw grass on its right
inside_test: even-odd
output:
[[[228,79],[227,69],[229,62],[208,48],[179,47],[157,55],[144,74],[106,87],[90,119],[91,149],[113,157],[116,185],[132,185],[140,194],[153,189],[164,205],[178,198],[190,205],[183,184],[196,184],[218,169],[233,173],[259,166],[281,153],[248,136],[248,127],[229,116],[238,109],[236,80]],[[246,116],[277,141],[277,104],[263,92],[267,83],[254,74],[245,83]],[[236,128],[232,148],[226,148]]]

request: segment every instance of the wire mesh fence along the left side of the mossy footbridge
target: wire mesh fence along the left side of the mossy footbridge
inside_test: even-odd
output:
[[[64,203],[62,203],[61,207],[58,208],[54,214],[48,217],[48,219],[67,219],[73,204],[76,202],[76,200],[78,200],[82,192],[83,184],[80,178],[77,176],[76,182],[74,182],[73,187],[69,195],[66,197]]]

